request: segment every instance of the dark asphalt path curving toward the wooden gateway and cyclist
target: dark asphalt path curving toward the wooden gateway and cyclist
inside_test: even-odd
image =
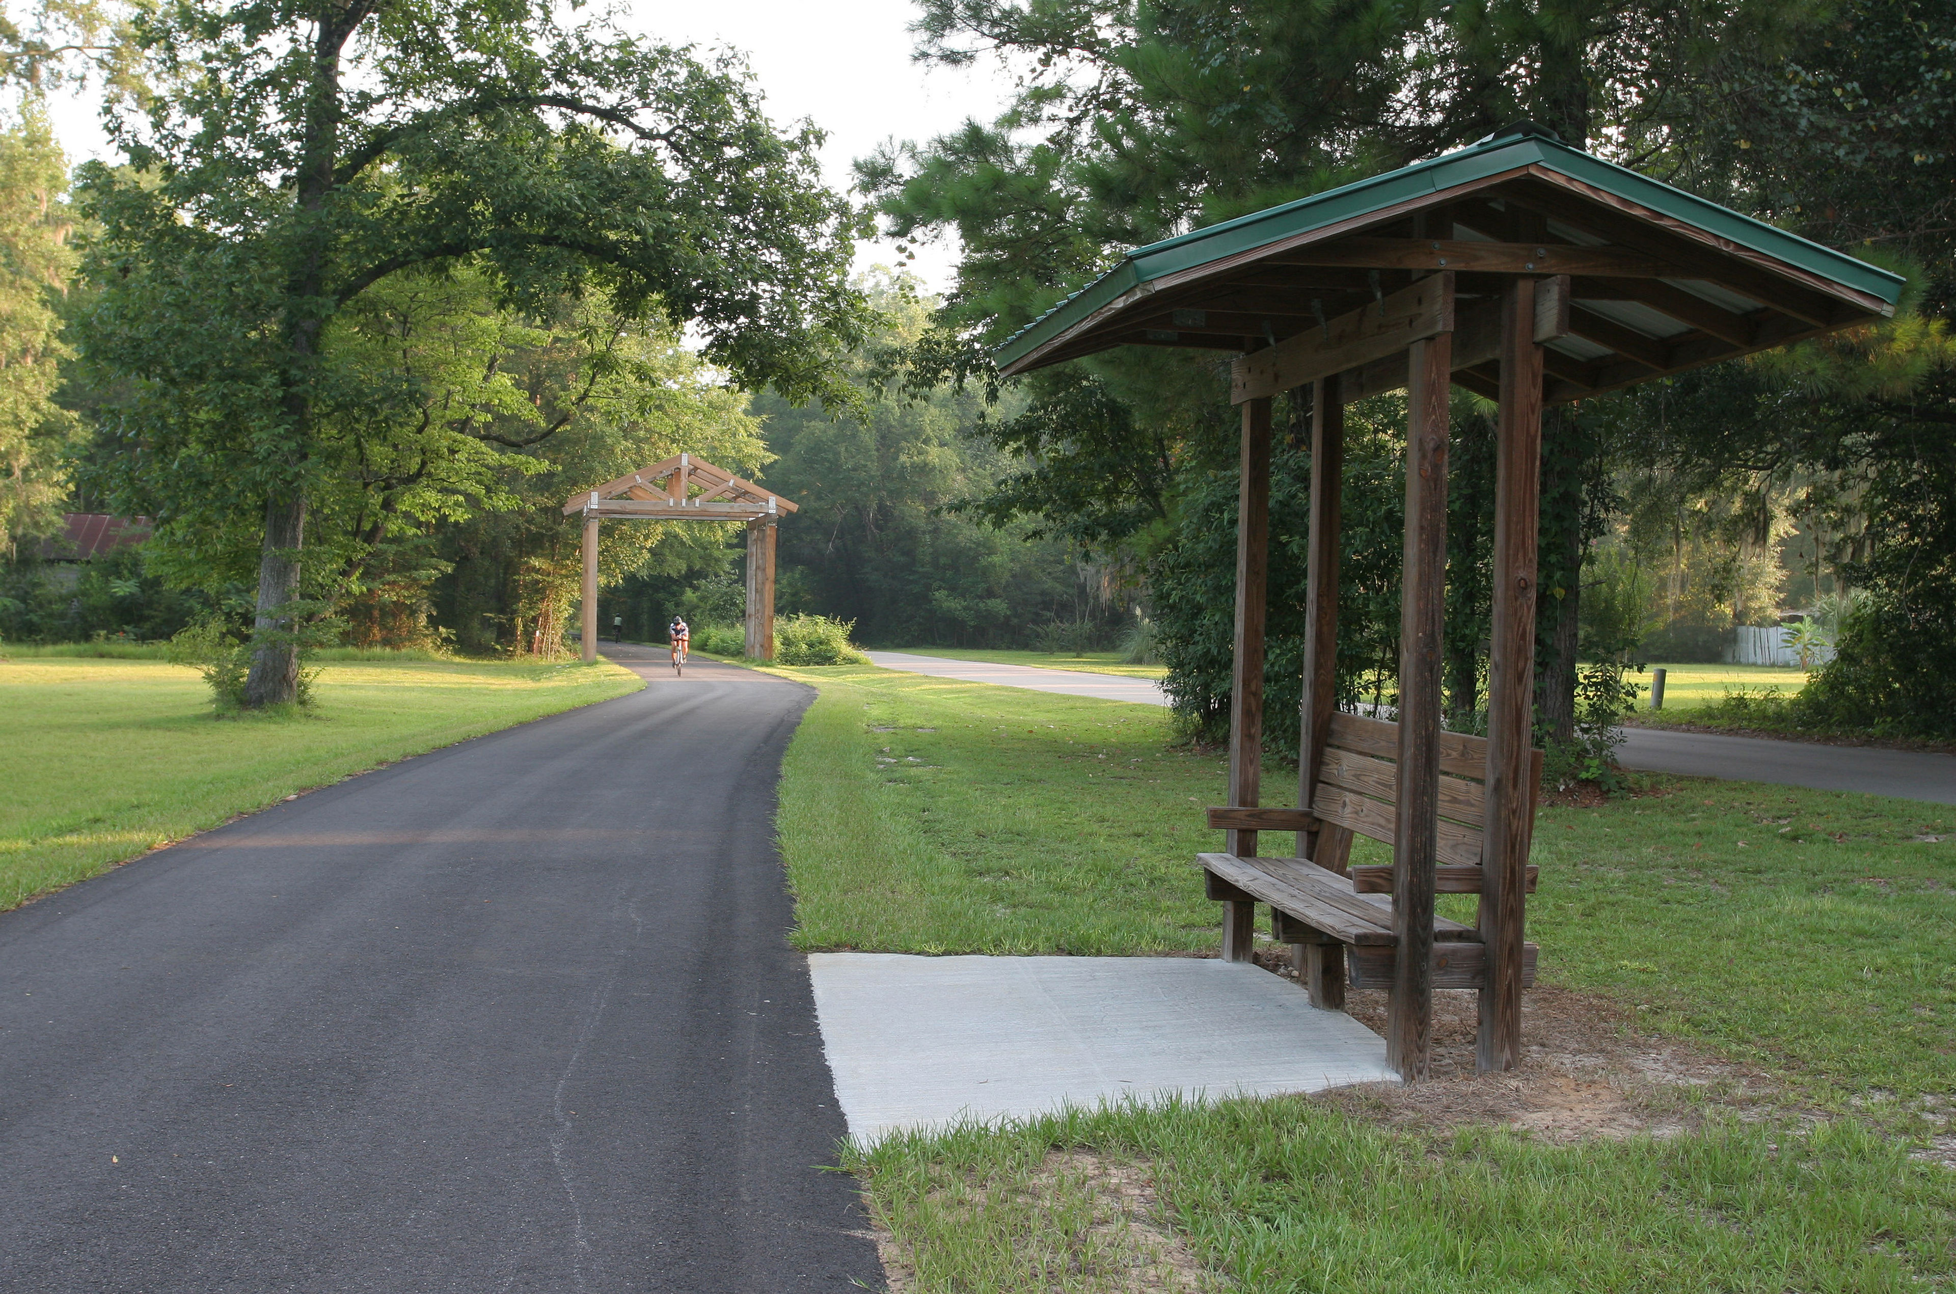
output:
[[[773,848],[812,693],[622,652],[0,914],[0,1290],[882,1288]]]

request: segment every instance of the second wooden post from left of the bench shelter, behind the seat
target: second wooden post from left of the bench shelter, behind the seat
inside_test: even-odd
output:
[[[1318,763],[1338,713],[1338,560],[1344,525],[1344,397],[1338,374],[1311,388],[1311,531],[1305,538],[1305,695],[1297,732],[1297,805],[1318,793]],[[1297,857],[1316,857],[1318,830],[1297,832]],[[1318,863],[1324,867],[1326,863]],[[1330,871],[1344,871],[1340,865]]]

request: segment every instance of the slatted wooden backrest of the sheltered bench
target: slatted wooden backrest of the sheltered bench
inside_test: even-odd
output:
[[[1318,760],[1311,812],[1359,836],[1393,844],[1399,799],[1399,724],[1357,715],[1334,715]],[[1528,816],[1535,816],[1541,752],[1534,752]],[[1440,854],[1438,863],[1481,863],[1481,820],[1487,805],[1487,738],[1440,734]],[[1340,859],[1342,861],[1342,859]]]

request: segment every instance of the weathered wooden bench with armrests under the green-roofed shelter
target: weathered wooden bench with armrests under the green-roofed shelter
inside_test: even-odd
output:
[[[1350,867],[1352,838],[1393,844],[1399,797],[1399,724],[1334,715],[1312,779],[1311,809],[1211,809],[1209,826],[1236,832],[1299,832],[1311,857],[1236,857],[1199,854],[1209,899],[1228,904],[1222,955],[1248,959],[1256,904],[1271,908],[1271,936],[1291,944],[1299,981],[1314,1006],[1342,1008],[1346,985],[1391,989],[1399,936],[1393,932],[1393,869]],[[1440,734],[1440,830],[1434,889],[1481,893],[1481,820],[1485,814],[1487,740]],[[1541,752],[1534,752],[1534,785]],[[1530,822],[1535,812],[1530,795]],[[1299,850],[1303,854],[1305,850]],[[1528,867],[1528,893],[1535,889]],[[1537,947],[1522,946],[1522,983],[1535,983]],[[1434,918],[1432,987],[1481,989],[1487,983],[1481,932]]]

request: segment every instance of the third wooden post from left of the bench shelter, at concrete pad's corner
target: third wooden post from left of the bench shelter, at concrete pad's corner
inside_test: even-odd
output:
[[[1393,826],[1393,996],[1385,1059],[1426,1077],[1434,1034],[1434,865],[1440,830],[1440,666],[1447,570],[1447,395],[1453,335],[1412,343],[1406,548],[1399,617],[1399,807]]]

